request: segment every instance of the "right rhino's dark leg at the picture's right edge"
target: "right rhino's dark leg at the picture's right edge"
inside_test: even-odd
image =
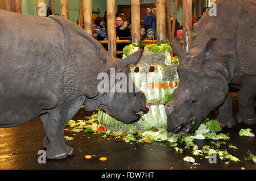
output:
[[[238,91],[237,122],[246,125],[256,124],[254,101],[256,97],[256,77],[243,75],[241,88]]]

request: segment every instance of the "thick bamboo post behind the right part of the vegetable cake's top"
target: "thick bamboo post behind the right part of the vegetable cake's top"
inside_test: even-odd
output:
[[[165,2],[165,0],[156,0],[156,37],[158,41],[166,40]]]

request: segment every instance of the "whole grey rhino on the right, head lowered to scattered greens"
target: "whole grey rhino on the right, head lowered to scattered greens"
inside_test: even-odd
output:
[[[236,124],[232,116],[229,85],[238,92],[238,123],[256,123],[253,104],[256,96],[256,5],[255,0],[216,1],[217,16],[208,11],[199,20],[192,37],[191,48],[185,54],[179,41],[172,48],[180,58],[177,69],[180,84],[174,99],[166,104],[167,134],[184,128],[195,131],[203,119],[218,107],[216,119],[222,128]]]

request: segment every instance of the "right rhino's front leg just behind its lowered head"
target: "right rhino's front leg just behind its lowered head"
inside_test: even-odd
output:
[[[233,128],[236,125],[232,116],[232,98],[228,94],[224,103],[218,108],[218,116],[216,120],[220,123],[221,128]]]

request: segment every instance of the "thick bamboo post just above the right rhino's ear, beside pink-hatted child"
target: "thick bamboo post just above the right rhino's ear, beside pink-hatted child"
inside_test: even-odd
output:
[[[182,27],[183,27],[183,40],[185,40],[185,32],[188,33],[188,48],[192,39],[192,0],[182,1]],[[184,43],[185,44],[185,43]]]

